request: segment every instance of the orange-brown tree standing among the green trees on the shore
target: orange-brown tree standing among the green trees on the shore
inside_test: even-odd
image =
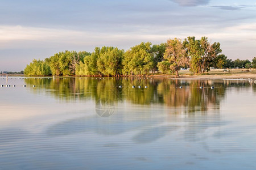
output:
[[[180,39],[167,40],[164,59],[170,63],[170,69],[175,71],[176,76],[179,77],[180,68],[185,66],[189,61]]]

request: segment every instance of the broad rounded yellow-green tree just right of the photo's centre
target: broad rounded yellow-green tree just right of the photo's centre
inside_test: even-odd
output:
[[[153,67],[153,57],[150,54],[151,42],[141,42],[127,50],[123,59],[123,74],[144,75]]]

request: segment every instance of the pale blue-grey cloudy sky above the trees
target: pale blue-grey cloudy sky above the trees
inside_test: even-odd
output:
[[[1,0],[0,71],[96,46],[127,50],[188,36],[220,42],[230,59],[256,57],[256,1]]]

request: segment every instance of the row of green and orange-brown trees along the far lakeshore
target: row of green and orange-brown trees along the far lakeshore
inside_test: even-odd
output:
[[[207,37],[169,39],[166,43],[151,42],[131,47],[129,50],[113,46],[96,47],[92,53],[59,52],[44,60],[34,59],[24,69],[26,75],[76,75],[76,76],[127,76],[146,75],[150,71],[163,74],[175,73],[181,68],[190,68],[193,74],[204,74],[215,68],[256,67],[256,57],[249,60],[228,59],[221,54],[219,42],[209,42]]]

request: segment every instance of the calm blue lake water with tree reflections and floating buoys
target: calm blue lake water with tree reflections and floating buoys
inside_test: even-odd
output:
[[[9,77],[8,84],[0,87],[0,169],[256,169],[254,82]]]

